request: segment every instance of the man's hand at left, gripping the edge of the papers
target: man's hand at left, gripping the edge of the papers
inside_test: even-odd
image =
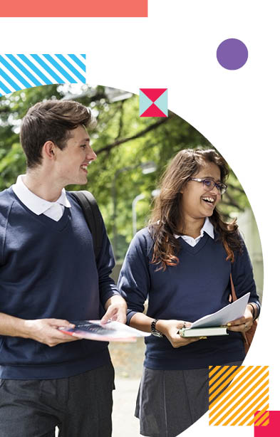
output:
[[[60,343],[73,342],[78,338],[64,334],[58,327],[75,327],[73,323],[61,319],[24,320],[25,338],[31,338],[50,347]]]

